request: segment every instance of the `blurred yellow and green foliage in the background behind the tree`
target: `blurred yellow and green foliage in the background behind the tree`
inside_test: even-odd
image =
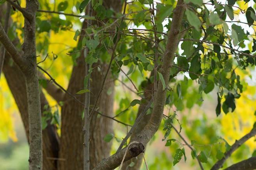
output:
[[[21,1],[21,6],[24,7],[24,1]],[[58,1],[57,3],[61,3]],[[64,1],[63,1],[64,2]],[[66,1],[67,2],[67,1]],[[167,1],[167,3],[173,3],[174,1]],[[72,3],[72,1],[68,1]],[[73,1],[75,4],[72,8],[67,8],[64,11],[66,13],[76,13],[78,11],[79,2]],[[76,4],[78,3],[78,4]],[[237,1],[237,5],[241,9],[247,9],[248,3],[244,1]],[[252,2],[255,9],[255,3]],[[44,8],[52,9],[54,7],[53,1],[40,0],[40,4],[44,4]],[[129,8],[139,8],[139,2],[130,5]],[[251,4],[250,4],[251,5]],[[129,11],[130,9],[127,9]],[[73,9],[73,11],[72,11]],[[239,9],[234,9],[234,13],[239,14]],[[51,73],[54,79],[61,84],[64,88],[68,86],[68,80],[71,74],[73,63],[72,57],[74,55],[67,55],[77,46],[77,42],[73,40],[75,31],[80,28],[81,21],[77,17],[64,16],[64,15],[49,15],[47,13],[38,12],[37,14],[38,33],[37,51],[38,62],[47,59],[41,63],[42,67]],[[21,43],[23,37],[22,27],[24,24],[23,17],[20,12],[12,12],[12,19],[14,25],[9,31],[10,38],[14,38],[13,34],[17,34]],[[236,17],[239,17],[237,15]],[[61,26],[56,23],[64,22]],[[40,26],[42,24],[43,26]],[[142,24],[142,23],[139,23]],[[145,27],[147,27],[145,25]],[[51,31],[47,30],[50,29]],[[253,26],[254,30],[256,26]],[[14,31],[14,32],[13,32]],[[254,35],[254,39],[255,39]],[[127,38],[126,41],[131,41],[132,38]],[[130,44],[132,45],[132,43]],[[134,45],[136,46],[136,44]],[[180,46],[179,46],[180,47]],[[205,45],[207,48],[207,45]],[[252,41],[250,41],[245,49],[252,48]],[[179,48],[181,53],[181,49]],[[203,60],[204,56],[201,56]],[[128,72],[133,64],[127,65],[124,69]],[[178,93],[171,93],[169,96],[171,101],[175,101],[169,105],[166,105],[164,114],[167,116],[176,115],[179,120],[174,121],[174,125],[177,129],[182,127],[181,134],[185,137],[188,143],[191,143],[195,147],[197,154],[201,151],[207,156],[205,166],[210,168],[226,151],[228,146],[232,145],[236,139],[247,134],[256,120],[256,70],[255,66],[246,67],[246,69],[240,69],[239,67],[234,70],[236,75],[240,76],[240,82],[242,84],[243,93],[239,99],[235,100],[236,109],[234,112],[228,114],[221,113],[216,117],[215,108],[217,105],[217,95],[219,89],[215,88],[210,93],[199,93],[199,84],[189,79],[188,74],[179,73],[175,78],[175,83],[171,83],[170,87],[174,92],[181,89],[181,96]],[[149,76],[149,72],[143,70],[143,76],[141,72],[136,68],[131,73],[130,77],[136,85],[143,85],[145,77]],[[232,75],[231,75],[232,76]],[[120,72],[119,79],[124,82],[126,86],[133,88],[129,80]],[[139,105],[130,106],[130,103],[138,95],[131,93],[123,83],[115,82],[115,113],[120,113],[127,108],[127,111],[118,116],[118,120],[126,122],[127,124],[133,124],[136,118],[136,111]],[[140,86],[141,89],[141,86]],[[16,103],[12,98],[12,94],[7,86],[7,82],[2,75],[0,81],[0,169],[1,170],[26,170],[28,169],[28,143],[26,141],[23,125],[19,112],[17,110]],[[47,95],[47,100],[50,106],[57,106],[55,100],[51,96]],[[180,98],[181,97],[181,98]],[[180,100],[172,100],[174,98],[180,98]],[[222,103],[225,98],[222,99]],[[57,108],[56,108],[57,109]],[[59,108],[60,109],[60,108]],[[164,122],[168,118],[164,118],[162,125],[150,142],[150,146],[146,151],[146,161],[150,170],[169,170],[169,169],[197,169],[197,162],[191,156],[191,150],[183,143],[176,132],[171,131],[168,139],[175,139],[170,146],[166,145],[164,138],[165,131]],[[180,126],[181,125],[181,126]],[[121,124],[114,124],[115,134],[113,140],[113,149],[111,153],[115,153],[119,146],[120,140],[124,137],[127,128]],[[154,146],[154,147],[152,147]],[[174,153],[176,149],[185,149],[186,163],[184,157],[175,167],[172,164]],[[228,159],[225,165],[230,165],[241,159],[249,158],[255,153],[256,143],[255,138],[249,139],[244,145],[242,145],[235,153]],[[195,165],[195,166],[193,166]],[[191,168],[192,167],[192,168]],[[194,168],[193,168],[194,167]],[[145,170],[145,165],[141,168]]]

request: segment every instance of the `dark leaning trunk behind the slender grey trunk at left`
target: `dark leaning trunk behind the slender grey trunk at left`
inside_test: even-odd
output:
[[[19,67],[15,63],[11,63],[10,57],[6,55],[5,64],[3,66],[3,73],[7,80],[8,86],[16,104],[18,106],[21,119],[24,125],[27,139],[29,141],[29,125],[28,125],[28,104],[26,95],[25,78]],[[47,100],[43,93],[40,94],[41,108],[47,105]],[[56,134],[56,127],[49,124],[43,133],[43,169],[56,170],[56,161],[49,158],[57,158],[58,156],[58,136]]]

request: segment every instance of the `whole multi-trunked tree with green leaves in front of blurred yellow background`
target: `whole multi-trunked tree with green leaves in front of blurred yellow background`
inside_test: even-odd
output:
[[[236,70],[248,72],[256,65],[256,16],[248,0],[228,0],[225,4],[216,0],[84,0],[76,4],[6,1],[0,1],[5,14],[0,15],[0,65],[3,63],[3,74],[26,129],[30,170],[111,170],[118,166],[139,169],[146,145],[161,126],[163,140],[168,138],[165,146],[178,141],[169,139],[171,131],[185,143],[181,143],[182,149],[176,149],[173,165],[183,155],[186,160],[186,145],[198,166],[205,168],[202,163],[207,163],[209,156],[204,151],[197,154],[196,145],[192,141],[189,144],[181,134],[176,112],[165,115],[164,108],[175,106],[183,111],[185,103],[187,108],[201,105],[204,94],[217,89],[216,116],[221,110],[225,114],[234,112],[245,86]],[[239,3],[249,7],[242,9]],[[250,3],[255,6],[255,1]],[[24,29],[13,16],[17,13],[24,17]],[[247,22],[239,21],[238,14],[244,15]],[[246,33],[244,25],[248,27]],[[48,52],[50,37],[63,31],[75,32],[73,39],[65,39],[77,41],[66,53],[72,63],[54,51]],[[45,57],[38,57],[41,55]],[[67,88],[54,78],[54,69],[51,73],[46,69],[50,59],[73,67]],[[120,74],[125,75],[125,80],[118,78]],[[183,80],[177,75],[182,75]],[[114,116],[117,82],[124,86],[131,83],[132,88],[127,88],[141,100],[120,100]],[[194,88],[193,82],[199,88]],[[48,94],[56,106],[49,105],[45,97]],[[134,124],[116,153],[109,156],[113,121],[128,126],[122,115],[137,104]],[[174,125],[177,122],[180,130]],[[61,135],[57,134],[59,128]],[[232,146],[225,141],[227,148],[224,153],[216,148],[218,161],[214,159],[211,169],[221,168],[240,145],[255,135],[254,124]],[[243,167],[244,162],[254,160],[252,157],[233,166]],[[255,164],[250,168],[256,168]]]

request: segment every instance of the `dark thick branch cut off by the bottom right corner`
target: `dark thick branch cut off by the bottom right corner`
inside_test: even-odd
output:
[[[226,168],[225,170],[254,170],[256,169],[256,156],[240,161]]]

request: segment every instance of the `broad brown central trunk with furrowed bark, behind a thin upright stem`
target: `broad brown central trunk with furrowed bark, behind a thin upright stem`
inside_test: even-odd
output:
[[[115,3],[113,3],[115,2]],[[122,8],[121,1],[108,0],[104,1],[105,7],[112,7],[114,10],[120,10]],[[85,27],[85,22],[84,26]],[[83,30],[83,29],[82,29]],[[83,35],[83,31],[81,31]],[[81,38],[80,38],[81,39]],[[103,81],[103,75],[106,72],[107,65],[99,64],[101,70],[94,69],[91,74],[91,99],[90,104],[93,105],[96,100],[96,95],[101,88],[101,82]],[[94,65],[93,67],[95,67]],[[84,102],[84,94],[76,95],[75,93],[84,89],[84,76],[85,76],[85,61],[84,52],[77,59],[77,65],[73,67],[70,84],[68,91],[75,95],[78,100]],[[111,81],[111,74],[108,75],[106,83],[104,85],[103,92],[100,96],[97,111],[101,111],[104,115],[112,116],[113,114],[113,94],[107,94],[108,89],[114,91],[114,82]],[[82,112],[84,106],[73,100],[68,94],[65,94],[64,100],[68,103],[64,103],[61,111],[61,147],[59,158],[64,158],[65,161],[59,161],[60,170],[82,170],[83,169],[83,120]],[[90,123],[90,169],[92,169],[103,158],[107,158],[110,154],[111,143],[106,143],[103,138],[106,134],[113,132],[112,120],[99,117],[96,113],[93,114]],[[75,144],[74,144],[75,142]],[[74,163],[70,163],[74,162]]]

